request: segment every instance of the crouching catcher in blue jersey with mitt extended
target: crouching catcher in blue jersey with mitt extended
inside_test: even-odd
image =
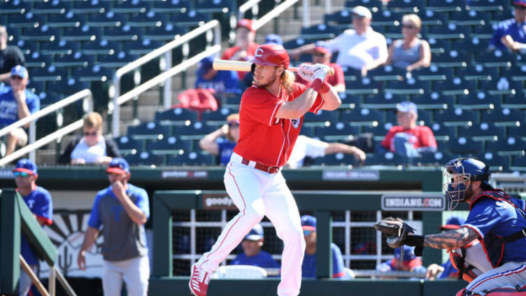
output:
[[[475,158],[451,160],[444,175],[449,210],[459,202],[469,204],[469,216],[459,229],[415,235],[413,228],[398,218],[385,218],[376,223],[375,229],[388,236],[390,247],[415,246],[416,255],[421,255],[425,246],[453,249],[451,257],[461,276],[469,281],[457,296],[492,295],[490,292],[526,295],[521,292],[526,288],[525,201],[493,188],[489,167]],[[476,239],[480,247],[459,251]]]

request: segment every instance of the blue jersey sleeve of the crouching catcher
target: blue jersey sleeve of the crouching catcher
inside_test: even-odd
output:
[[[484,238],[485,234],[502,220],[495,209],[496,206],[495,201],[489,198],[476,202],[469,211],[466,223],[462,227],[469,227],[471,230],[475,230],[481,238]]]

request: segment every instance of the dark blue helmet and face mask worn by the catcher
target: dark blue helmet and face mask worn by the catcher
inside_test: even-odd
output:
[[[449,211],[466,199],[465,192],[471,181],[482,181],[492,188],[489,182],[490,167],[476,158],[455,158],[446,164],[443,174],[446,177],[443,188],[451,201]]]

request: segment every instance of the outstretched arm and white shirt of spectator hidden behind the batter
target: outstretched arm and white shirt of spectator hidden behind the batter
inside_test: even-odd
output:
[[[298,136],[296,144],[292,149],[292,154],[287,161],[287,167],[290,169],[297,169],[304,164],[305,157],[324,157],[327,154],[346,153],[352,154],[355,159],[360,162],[365,162],[365,153],[355,146],[348,146],[343,143],[327,143],[324,141],[309,138],[308,136]]]

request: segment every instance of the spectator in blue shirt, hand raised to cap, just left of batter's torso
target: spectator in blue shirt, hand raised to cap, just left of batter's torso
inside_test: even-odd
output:
[[[225,137],[219,139],[220,137]],[[225,166],[230,161],[230,156],[239,140],[239,114],[227,116],[227,124],[215,132],[211,132],[199,141],[199,147],[208,151],[211,155],[219,156],[219,164]]]

